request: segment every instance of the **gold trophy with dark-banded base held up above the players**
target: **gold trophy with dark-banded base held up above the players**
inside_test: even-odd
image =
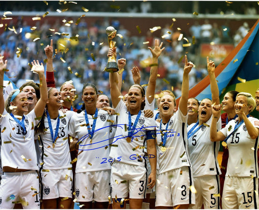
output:
[[[108,35],[108,44],[110,48],[114,48],[116,41],[112,41],[112,39],[116,36],[116,30],[115,28],[113,28],[112,26],[109,26],[106,28],[106,34]],[[105,71],[107,72],[117,72],[119,71],[118,65],[117,65],[117,61],[115,56],[110,56],[108,58],[108,63],[106,66]]]

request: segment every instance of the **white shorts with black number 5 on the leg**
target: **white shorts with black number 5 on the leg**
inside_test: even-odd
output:
[[[195,194],[195,205],[190,206],[192,209],[201,208],[202,204],[205,209],[220,209],[220,178],[218,175],[206,175],[194,177],[194,187],[197,190]]]

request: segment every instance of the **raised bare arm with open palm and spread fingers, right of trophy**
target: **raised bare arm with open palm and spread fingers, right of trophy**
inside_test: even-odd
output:
[[[152,53],[152,65],[151,65],[147,93],[146,93],[146,97],[149,103],[152,103],[152,101],[154,100],[156,78],[157,78],[158,57],[161,55],[162,51],[164,50],[164,47],[161,48],[162,45],[163,45],[163,42],[159,44],[159,40],[155,39],[154,49],[152,49],[151,47],[148,47]]]

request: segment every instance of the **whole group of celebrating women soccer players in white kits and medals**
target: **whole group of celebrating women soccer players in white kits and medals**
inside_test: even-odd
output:
[[[155,39],[148,47],[147,88],[133,67],[134,84],[122,96],[122,73],[110,72],[112,106],[86,83],[80,110],[73,107],[71,80],[55,87],[52,40],[45,47],[46,75],[42,63],[31,62],[39,84],[23,84],[6,101],[8,61],[0,55],[0,208],[73,208],[74,202],[106,209],[146,202],[150,208],[258,208],[259,120],[250,113],[259,112],[259,89],[255,97],[229,91],[220,102],[215,64],[207,57],[211,98],[188,98],[194,64],[185,56],[179,104],[165,90],[154,110],[162,45]],[[107,56],[116,57],[116,47]],[[119,70],[125,65],[118,59]]]

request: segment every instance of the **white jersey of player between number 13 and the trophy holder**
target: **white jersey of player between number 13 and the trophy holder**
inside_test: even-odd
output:
[[[84,112],[73,115],[69,123],[69,135],[77,137],[80,142],[75,173],[111,169],[109,153],[113,138],[110,136],[110,132],[116,117],[98,109],[95,132],[91,140]],[[93,118],[94,116],[88,115],[91,129]]]

